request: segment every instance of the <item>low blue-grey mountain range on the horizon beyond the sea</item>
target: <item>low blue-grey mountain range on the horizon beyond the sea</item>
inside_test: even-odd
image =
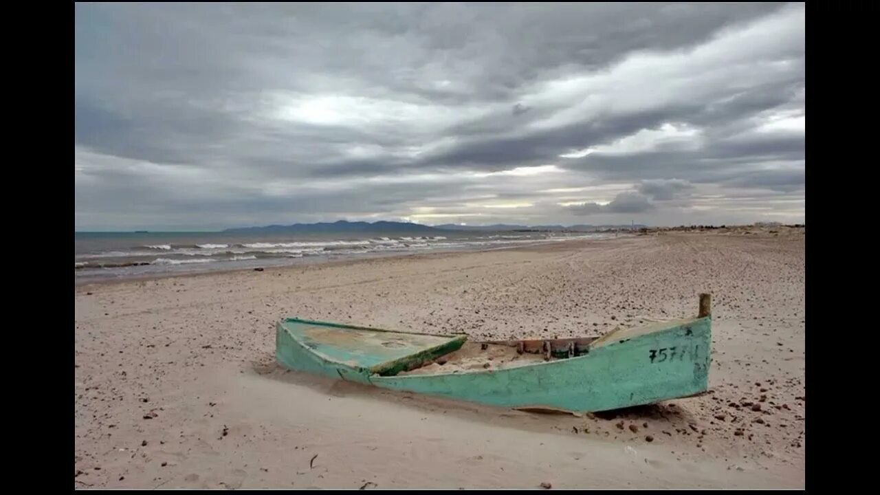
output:
[[[642,228],[645,225],[421,225],[407,222],[319,222],[317,224],[265,225],[261,227],[237,227],[224,230],[226,233],[438,233],[442,231],[468,232],[594,232],[611,229]]]

